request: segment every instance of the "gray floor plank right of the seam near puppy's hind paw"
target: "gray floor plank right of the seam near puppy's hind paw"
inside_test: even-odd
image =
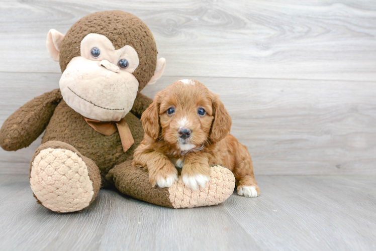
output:
[[[262,249],[375,248],[374,176],[263,176],[259,183],[261,197],[233,195],[225,208]]]

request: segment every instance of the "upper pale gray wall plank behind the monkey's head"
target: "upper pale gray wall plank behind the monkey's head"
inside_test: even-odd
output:
[[[123,10],[152,30],[166,76],[373,81],[373,1],[2,1],[0,71],[60,72],[48,56],[49,29]]]

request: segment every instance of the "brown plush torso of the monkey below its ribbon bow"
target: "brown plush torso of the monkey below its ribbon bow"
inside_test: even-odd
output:
[[[46,128],[42,143],[62,141],[93,160],[101,170],[102,179],[115,165],[132,159],[134,150],[144,137],[141,120],[129,112],[125,119],[135,143],[124,153],[118,132],[105,136],[92,129],[82,115],[70,108],[64,100],[57,105]]]

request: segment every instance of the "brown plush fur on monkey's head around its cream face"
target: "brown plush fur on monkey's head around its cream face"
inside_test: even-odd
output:
[[[105,35],[116,50],[130,45],[137,51],[140,65],[133,74],[139,82],[138,90],[142,90],[154,74],[158,53],[145,23],[122,11],[97,12],[81,18],[65,34],[60,49],[61,72],[73,57],[80,56],[80,43],[89,33]]]

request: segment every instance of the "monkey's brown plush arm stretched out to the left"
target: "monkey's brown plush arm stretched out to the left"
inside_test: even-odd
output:
[[[28,147],[46,129],[61,98],[60,90],[55,89],[21,106],[0,129],[0,146],[6,151]]]

